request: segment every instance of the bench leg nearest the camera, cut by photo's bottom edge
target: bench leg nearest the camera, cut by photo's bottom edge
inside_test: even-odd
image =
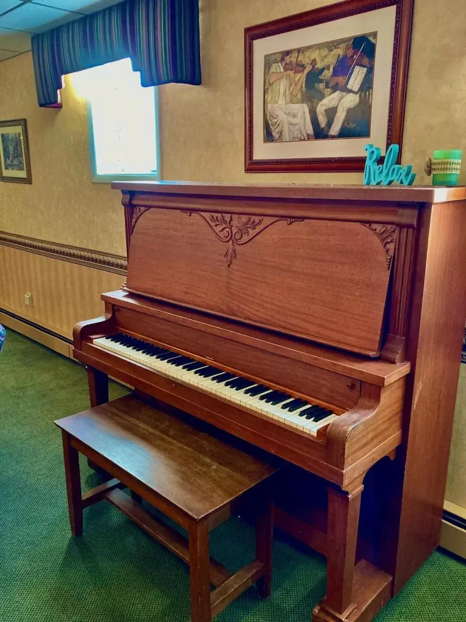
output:
[[[211,620],[209,527],[207,521],[192,522],[190,536],[191,622]]]

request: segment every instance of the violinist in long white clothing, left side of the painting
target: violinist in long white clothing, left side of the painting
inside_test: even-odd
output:
[[[303,80],[311,65],[298,63],[296,50],[283,52],[280,62],[273,62],[267,77],[265,112],[274,141],[313,139],[309,108],[300,103]],[[295,101],[293,101],[295,100]]]

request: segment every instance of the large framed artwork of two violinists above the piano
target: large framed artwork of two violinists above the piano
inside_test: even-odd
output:
[[[245,29],[245,170],[363,170],[401,147],[414,0],[347,0]]]

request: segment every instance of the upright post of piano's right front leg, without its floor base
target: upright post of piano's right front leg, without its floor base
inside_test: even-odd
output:
[[[328,489],[327,595],[314,609],[313,622],[352,620],[352,599],[362,477],[344,491]],[[357,619],[357,618],[355,618]]]

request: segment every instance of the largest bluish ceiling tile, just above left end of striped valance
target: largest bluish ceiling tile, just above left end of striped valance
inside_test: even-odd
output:
[[[76,13],[69,13],[61,9],[52,9],[41,4],[28,2],[19,8],[0,16],[0,27],[14,28],[29,32],[42,32],[65,22],[76,19]]]

